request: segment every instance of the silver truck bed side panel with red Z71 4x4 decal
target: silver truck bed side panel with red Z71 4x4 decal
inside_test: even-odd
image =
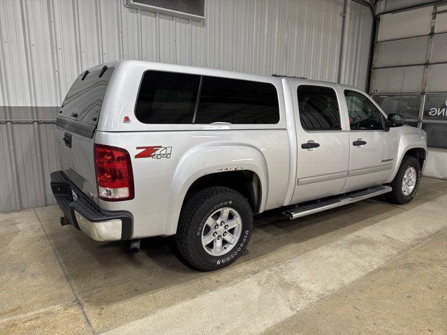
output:
[[[134,238],[175,234],[184,193],[196,178],[205,174],[253,170],[261,174],[258,177],[266,188],[262,190],[265,207],[261,210],[281,207],[284,201],[289,159],[286,129],[97,131],[95,142],[122,147],[131,155],[135,199],[124,202],[100,200],[100,206],[131,211]],[[155,154],[147,156],[149,151],[138,147],[159,148],[155,148]],[[176,191],[182,182],[179,175],[184,179],[180,192]]]

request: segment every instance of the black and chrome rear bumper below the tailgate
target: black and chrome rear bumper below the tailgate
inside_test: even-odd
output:
[[[74,225],[96,241],[116,241],[132,237],[133,216],[129,211],[105,211],[99,208],[61,171],[52,172],[51,189],[64,212],[62,225]],[[77,199],[73,199],[73,193]]]

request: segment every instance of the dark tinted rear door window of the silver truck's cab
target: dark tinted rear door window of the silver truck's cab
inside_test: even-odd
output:
[[[298,108],[302,128],[306,130],[342,129],[337,95],[329,87],[310,85],[298,87]]]

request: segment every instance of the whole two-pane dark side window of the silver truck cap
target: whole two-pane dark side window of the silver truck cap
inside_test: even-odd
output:
[[[277,124],[279,105],[272,84],[151,70],[135,116],[145,124]]]

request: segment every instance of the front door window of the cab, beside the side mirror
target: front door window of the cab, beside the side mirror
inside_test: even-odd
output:
[[[383,129],[382,113],[369,98],[356,91],[344,91],[351,129]]]

